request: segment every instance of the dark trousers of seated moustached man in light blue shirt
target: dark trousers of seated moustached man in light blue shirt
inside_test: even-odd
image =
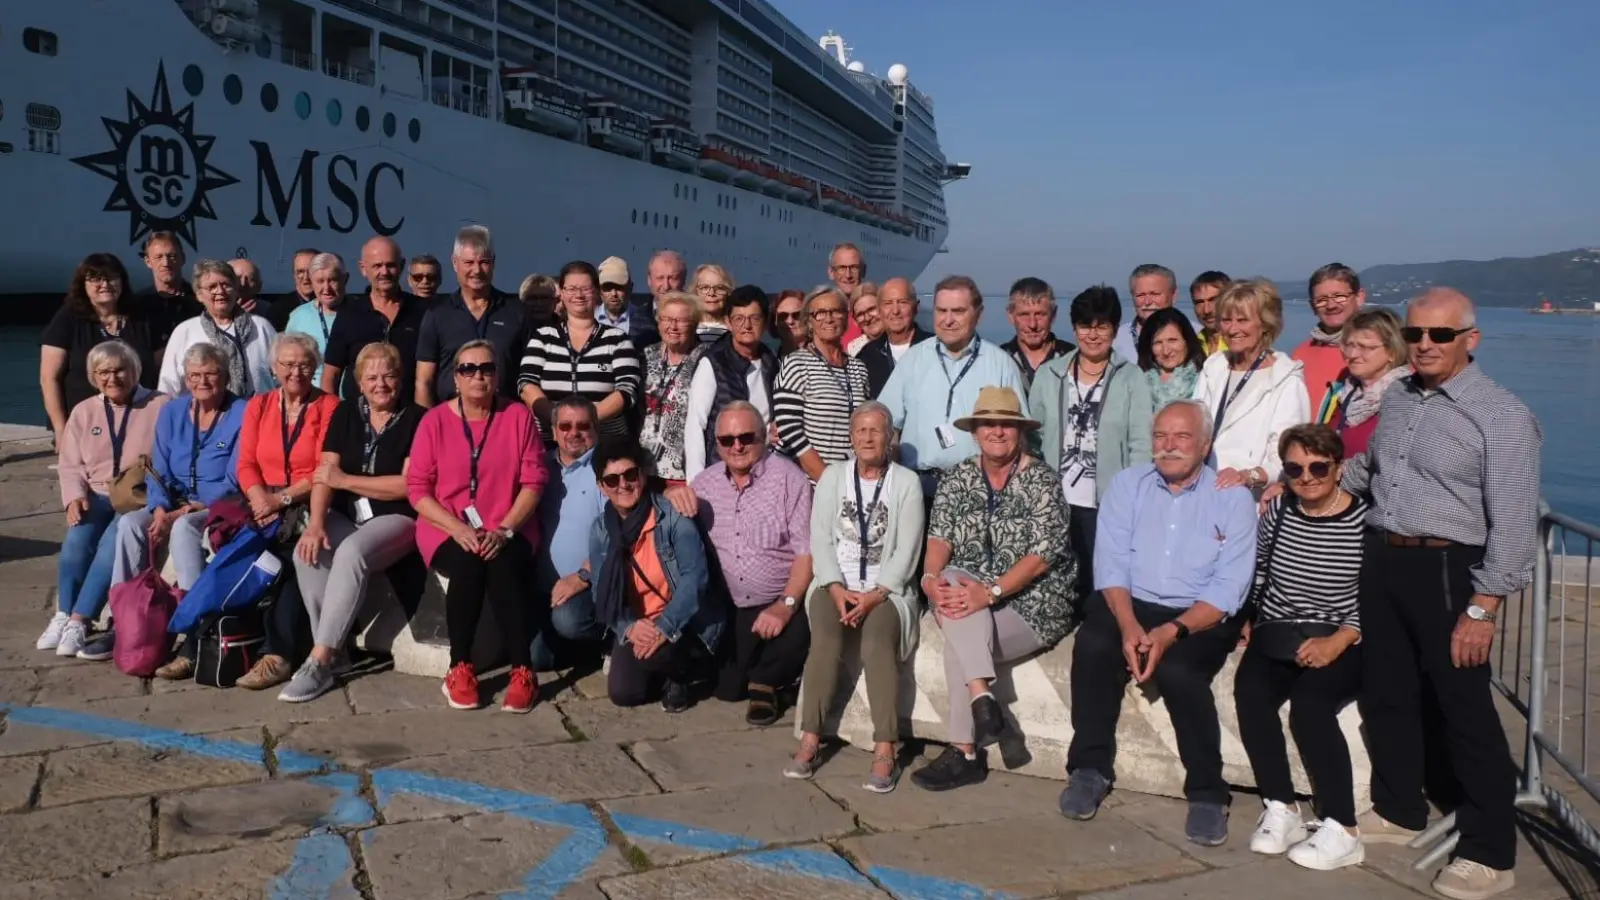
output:
[[[1133,615],[1146,631],[1178,618],[1184,610],[1133,601]],[[1216,628],[1173,644],[1155,665],[1155,687],[1178,737],[1184,764],[1184,796],[1194,802],[1229,802],[1222,780],[1222,725],[1216,719],[1211,679],[1238,645],[1238,626],[1226,620]],[[1067,772],[1093,769],[1115,777],[1117,717],[1128,685],[1128,661],[1122,655],[1122,629],[1106,599],[1094,594],[1078,626],[1072,650],[1072,746]]]

